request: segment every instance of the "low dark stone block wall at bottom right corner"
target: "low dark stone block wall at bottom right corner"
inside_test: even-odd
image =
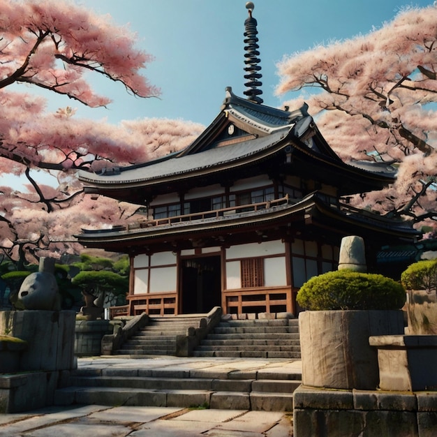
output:
[[[437,435],[437,392],[330,390],[301,385],[293,401],[296,437]]]

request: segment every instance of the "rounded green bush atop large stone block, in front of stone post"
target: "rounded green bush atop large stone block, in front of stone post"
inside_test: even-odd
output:
[[[298,304],[312,311],[394,310],[405,301],[403,286],[393,279],[347,269],[313,276],[297,293]]]

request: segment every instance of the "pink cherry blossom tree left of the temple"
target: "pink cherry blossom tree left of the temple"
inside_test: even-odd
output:
[[[92,202],[74,171],[144,162],[187,145],[200,125],[138,120],[110,126],[75,119],[72,108],[45,110],[45,98],[67,96],[89,107],[106,106],[89,75],[121,84],[133,96],[158,96],[143,71],[152,57],[135,48],[135,35],[108,16],[68,0],[0,3],[0,172],[27,178],[27,189],[0,187],[0,249],[10,259],[77,251],[72,235],[99,221],[117,224],[135,205]],[[23,85],[26,85],[25,87]],[[25,92],[23,92],[25,89]],[[57,187],[36,182],[34,171],[57,177]]]

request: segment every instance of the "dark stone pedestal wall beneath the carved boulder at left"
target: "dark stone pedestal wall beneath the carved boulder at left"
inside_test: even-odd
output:
[[[0,334],[26,341],[0,375],[0,413],[18,413],[53,404],[62,379],[77,368],[75,311],[0,311]],[[8,354],[0,360],[8,359]]]

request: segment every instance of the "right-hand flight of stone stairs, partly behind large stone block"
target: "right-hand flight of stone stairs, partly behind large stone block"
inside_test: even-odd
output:
[[[193,356],[300,360],[299,320],[221,320]]]

